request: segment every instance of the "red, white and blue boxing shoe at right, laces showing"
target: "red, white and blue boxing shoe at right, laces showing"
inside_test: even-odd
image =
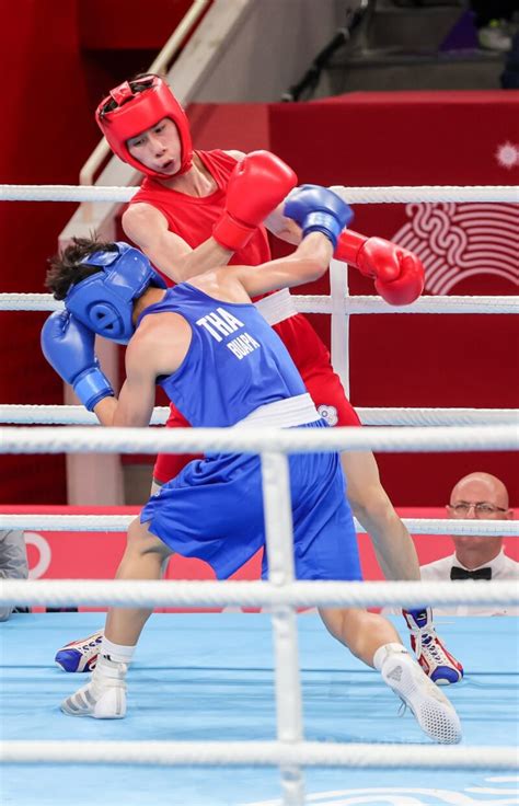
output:
[[[402,611],[411,632],[411,646],[427,677],[437,686],[450,686],[463,677],[463,667],[436,634],[430,608]]]

